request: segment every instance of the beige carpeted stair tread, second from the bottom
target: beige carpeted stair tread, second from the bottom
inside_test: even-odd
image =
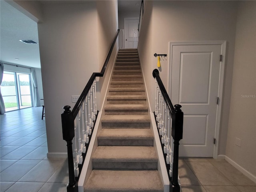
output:
[[[98,146],[92,162],[158,162],[152,146]]]

